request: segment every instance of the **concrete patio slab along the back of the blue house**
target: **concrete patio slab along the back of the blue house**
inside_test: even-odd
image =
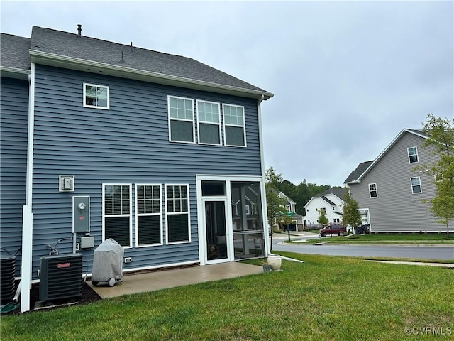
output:
[[[87,283],[101,298],[111,298],[129,293],[145,293],[176,286],[262,273],[262,266],[231,262],[152,271],[143,274],[123,274],[122,281],[118,281],[113,287],[102,282],[98,286],[93,286],[92,281],[87,281]]]

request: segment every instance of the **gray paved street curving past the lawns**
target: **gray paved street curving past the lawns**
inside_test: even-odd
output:
[[[318,237],[317,234],[291,236],[292,240]],[[322,238],[328,240],[329,237]],[[272,249],[277,251],[297,252],[300,254],[326,254],[331,256],[367,256],[367,257],[395,257],[415,259],[454,259],[454,246],[398,246],[398,245],[342,245],[342,244],[284,244],[287,234],[273,234]]]

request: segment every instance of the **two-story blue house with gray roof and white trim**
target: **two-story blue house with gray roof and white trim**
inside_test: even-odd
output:
[[[2,33],[0,71],[1,248],[17,252],[22,311],[48,245],[88,272],[109,238],[123,271],[268,253],[260,105],[273,94],[80,27]]]

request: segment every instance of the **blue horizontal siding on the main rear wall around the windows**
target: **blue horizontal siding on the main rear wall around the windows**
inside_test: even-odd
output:
[[[84,82],[109,87],[109,110],[83,107]],[[192,98],[194,106],[202,99],[245,107],[247,148],[169,142],[167,95]],[[192,242],[135,248],[133,219],[134,247],[125,249],[133,262],[123,269],[134,269],[199,259],[196,174],[261,175],[256,99],[36,65],[34,133],[33,274],[47,244],[72,237],[73,195],[90,196],[97,247],[103,183],[160,183],[162,191],[166,183],[189,184]],[[58,192],[59,175],[75,175],[74,192]],[[165,214],[162,219],[165,231]],[[57,249],[71,252],[72,242]],[[93,250],[82,252],[90,263]]]

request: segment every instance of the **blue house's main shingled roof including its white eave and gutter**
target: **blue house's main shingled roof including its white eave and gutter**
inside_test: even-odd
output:
[[[3,49],[2,49],[3,50]],[[3,52],[3,51],[2,51]],[[33,26],[31,60],[104,75],[268,99],[272,93],[192,58]]]

